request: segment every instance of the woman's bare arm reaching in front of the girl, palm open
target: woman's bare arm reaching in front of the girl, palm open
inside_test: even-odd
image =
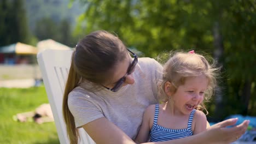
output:
[[[232,128],[226,128],[229,125],[234,125],[237,119],[232,118],[226,121],[214,124],[208,130],[203,131],[197,135],[184,137],[163,142],[149,142],[151,144],[197,144],[197,143],[230,143],[237,140],[242,134],[245,133],[249,121],[246,120],[240,125]],[[132,125],[131,125],[132,127]],[[106,118],[98,118],[88,124],[83,125],[83,128],[91,136],[91,138],[98,143],[135,143],[127,136],[121,129],[119,129],[112,122]]]

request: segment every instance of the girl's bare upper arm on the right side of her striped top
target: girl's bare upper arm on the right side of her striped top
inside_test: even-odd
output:
[[[196,110],[193,121],[194,121],[193,135],[199,134],[202,131],[206,130],[207,119],[206,119],[205,113],[203,113],[202,111]]]

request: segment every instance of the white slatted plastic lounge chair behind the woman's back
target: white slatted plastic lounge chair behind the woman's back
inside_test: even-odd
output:
[[[66,125],[62,116],[62,97],[71,63],[72,50],[47,49],[37,54],[60,143],[69,143]],[[84,129],[79,129],[79,143],[95,143]]]

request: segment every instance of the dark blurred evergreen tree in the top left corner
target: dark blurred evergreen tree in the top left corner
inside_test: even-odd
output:
[[[30,42],[23,0],[0,1],[0,20],[0,46]]]

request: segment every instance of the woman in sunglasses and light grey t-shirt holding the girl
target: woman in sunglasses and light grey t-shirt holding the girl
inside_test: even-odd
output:
[[[129,55],[131,53],[132,57]],[[63,116],[71,143],[84,128],[96,143],[135,143],[143,112],[158,103],[162,67],[152,58],[138,58],[120,39],[106,31],[87,35],[77,44],[63,97]],[[248,121],[234,128],[229,119],[195,136],[156,143],[231,142]]]

